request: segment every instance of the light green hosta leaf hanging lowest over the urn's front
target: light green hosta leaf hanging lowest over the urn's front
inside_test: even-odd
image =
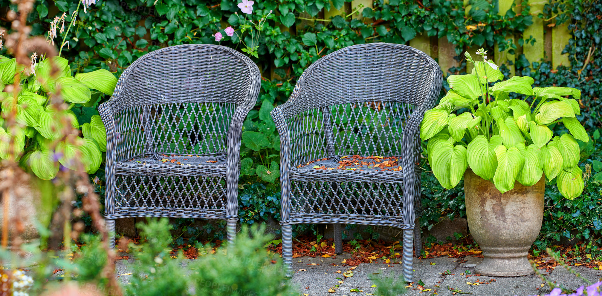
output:
[[[514,188],[514,181],[523,169],[525,157],[516,146],[506,149],[506,146],[498,145],[494,151],[497,156],[497,169],[493,183],[497,190],[504,193]]]

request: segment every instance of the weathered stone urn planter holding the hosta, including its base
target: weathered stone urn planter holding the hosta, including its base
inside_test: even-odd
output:
[[[467,169],[464,174],[468,228],[483,250],[476,273],[483,276],[526,276],[535,273],[527,254],[544,217],[545,177],[533,186],[515,181],[501,194],[491,181]]]

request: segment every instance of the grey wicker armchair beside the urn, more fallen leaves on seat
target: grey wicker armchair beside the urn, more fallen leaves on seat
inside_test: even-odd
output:
[[[415,203],[420,207],[418,133],[441,83],[432,58],[390,43],[345,47],[303,72],[288,101],[272,111],[281,138],[287,276],[293,274],[291,225],[334,223],[341,253],[341,223],[347,223],[403,229],[403,275],[412,281],[413,230],[418,256],[421,245],[414,211]],[[357,157],[357,169],[338,169],[339,160],[358,155],[393,157],[402,169],[359,164]]]

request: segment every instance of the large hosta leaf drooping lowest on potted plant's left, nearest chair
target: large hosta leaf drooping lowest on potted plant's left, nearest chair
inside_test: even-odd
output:
[[[468,166],[466,148],[462,145],[454,146],[447,141],[433,145],[430,165],[433,174],[445,189],[452,189],[460,180]]]

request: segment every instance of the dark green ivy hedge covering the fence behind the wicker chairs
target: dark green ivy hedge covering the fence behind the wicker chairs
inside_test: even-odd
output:
[[[88,8],[88,13],[80,11],[76,25],[69,32],[69,47],[63,49],[63,56],[75,65],[73,70],[86,72],[106,68],[119,75],[132,61],[152,50],[184,43],[217,43],[212,37],[222,32],[228,25],[237,26],[239,11],[237,2],[194,1],[194,0],[98,0],[98,4]],[[497,1],[470,0],[464,6],[462,0],[383,0],[373,2],[370,8],[351,7],[350,2],[334,0],[279,0],[256,1],[250,19],[257,22],[267,17],[261,38],[258,40],[257,57],[263,76],[262,91],[254,110],[244,122],[243,147],[241,148],[241,180],[239,214],[241,223],[255,223],[279,219],[279,137],[270,119],[273,106],[287,100],[294,83],[303,70],[320,56],[346,46],[358,43],[384,41],[408,43],[418,34],[426,32],[429,37],[445,38],[456,44],[456,55],[469,47],[492,48],[497,42],[500,50],[514,49],[523,45],[509,43],[503,36],[521,32],[532,24],[527,1],[522,2],[522,11],[517,14],[508,11],[500,16]],[[69,15],[78,2],[71,0],[37,1],[35,13],[29,17],[33,23],[33,35],[48,35],[48,24],[57,15]],[[547,4],[539,17],[554,17],[556,25],[568,21],[574,38],[566,47],[572,68],[551,68],[550,62],[527,61],[524,55],[517,57],[517,74],[533,76],[537,86],[570,86],[582,89],[582,104],[585,112],[579,117],[591,132],[600,125],[600,25],[598,13],[602,10],[601,1],[554,2]],[[0,7],[14,9],[8,0],[0,0]],[[324,10],[336,8],[342,13],[329,20],[324,19]],[[560,13],[559,11],[565,11]],[[312,21],[320,19],[320,21]],[[8,28],[8,23],[0,19],[0,26]],[[477,29],[469,29],[473,26]],[[222,45],[241,50],[236,37],[226,37]],[[62,40],[59,34],[58,39]],[[57,43],[60,43],[58,40]],[[245,39],[247,43],[249,40]],[[533,41],[533,40],[529,40]],[[543,41],[543,40],[535,40]],[[597,48],[588,59],[589,49]],[[4,54],[0,51],[0,54]],[[453,53],[452,53],[453,54]],[[458,57],[456,57],[458,58]],[[460,58],[458,58],[461,61]],[[449,69],[461,73],[461,67]],[[509,71],[506,70],[506,74]],[[105,97],[104,100],[107,98]],[[88,118],[96,114],[96,106],[75,110],[78,117]],[[561,127],[557,127],[557,131]],[[599,141],[598,141],[599,142]],[[594,165],[602,159],[599,143],[583,145],[582,166]],[[426,160],[423,162],[423,204],[425,207],[423,226],[430,228],[441,217],[463,217],[464,198],[462,186],[444,190],[429,172]],[[596,169],[597,168],[597,169]],[[602,166],[594,165],[594,174]],[[585,170],[584,170],[585,171]],[[104,176],[99,176],[104,179]],[[554,184],[547,186],[546,214],[539,244],[560,237],[576,235],[579,239],[599,238],[602,234],[600,221],[602,200],[602,174],[592,175],[586,186],[586,193],[568,201],[562,199]],[[185,219],[178,220],[179,228],[185,236],[198,237],[202,232],[213,231],[195,229]],[[176,226],[178,227],[178,226]],[[299,226],[299,231],[308,226]],[[311,229],[311,228],[309,228]],[[221,238],[220,229],[215,232]]]

